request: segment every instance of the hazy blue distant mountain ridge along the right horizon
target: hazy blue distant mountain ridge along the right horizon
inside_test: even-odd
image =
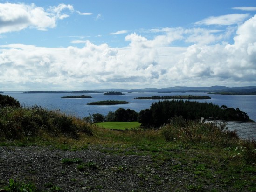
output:
[[[123,91],[123,92],[256,92],[256,86],[245,87],[226,87],[226,86],[211,86],[211,87],[186,87],[175,86],[166,88],[142,88],[142,89],[99,89],[96,91]]]

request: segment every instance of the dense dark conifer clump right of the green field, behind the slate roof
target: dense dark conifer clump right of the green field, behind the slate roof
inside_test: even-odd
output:
[[[186,120],[199,120],[201,117],[216,117],[219,120],[251,121],[249,116],[238,108],[221,108],[212,103],[199,103],[183,100],[165,100],[152,103],[150,109],[139,113],[138,121],[144,127],[159,127],[172,117],[183,117]]]

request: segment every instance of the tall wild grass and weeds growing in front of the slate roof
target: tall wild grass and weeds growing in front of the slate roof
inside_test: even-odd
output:
[[[166,141],[211,144],[213,146],[233,146],[239,140],[235,131],[229,131],[226,124],[199,123],[174,117],[161,127]]]

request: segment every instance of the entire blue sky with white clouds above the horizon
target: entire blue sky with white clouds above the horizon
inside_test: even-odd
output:
[[[256,86],[256,0],[0,0],[0,91]]]

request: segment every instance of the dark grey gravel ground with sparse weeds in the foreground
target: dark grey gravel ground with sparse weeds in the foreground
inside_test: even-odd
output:
[[[99,148],[64,151],[50,146],[0,147],[0,189],[10,178],[30,181],[39,191],[64,192],[186,191],[189,184],[196,183],[193,175],[172,171],[175,165],[183,166],[175,159],[159,165],[151,156],[117,155],[100,152]],[[81,162],[62,163],[65,158],[80,158],[93,166],[79,170]]]

